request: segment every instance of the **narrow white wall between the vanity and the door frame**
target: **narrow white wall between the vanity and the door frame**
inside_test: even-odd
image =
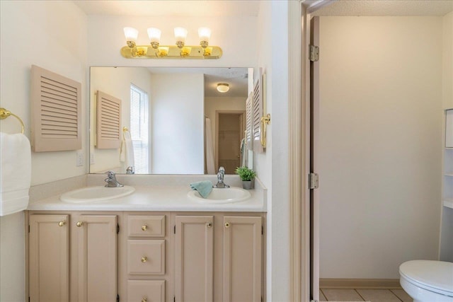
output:
[[[254,153],[253,161],[258,178],[268,188],[268,301],[290,300],[288,11],[297,10],[298,5],[297,1],[260,1],[258,16],[258,66],[263,67],[267,76],[265,98],[271,122],[267,149],[265,153]]]

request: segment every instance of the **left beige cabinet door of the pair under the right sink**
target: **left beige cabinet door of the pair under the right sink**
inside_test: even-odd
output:
[[[176,301],[212,301],[214,219],[176,216]]]

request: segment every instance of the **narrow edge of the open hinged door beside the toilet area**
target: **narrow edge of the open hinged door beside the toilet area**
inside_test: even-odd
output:
[[[310,45],[319,45],[319,17],[311,19]],[[316,158],[319,131],[319,62],[310,60],[310,173],[319,166]],[[316,180],[317,182],[317,180]],[[317,186],[316,186],[317,187]],[[319,301],[319,190],[310,190],[310,296]]]

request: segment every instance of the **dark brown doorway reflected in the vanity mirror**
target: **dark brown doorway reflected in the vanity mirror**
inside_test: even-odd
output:
[[[217,170],[234,174],[241,166],[241,140],[244,133],[245,112],[217,112]]]

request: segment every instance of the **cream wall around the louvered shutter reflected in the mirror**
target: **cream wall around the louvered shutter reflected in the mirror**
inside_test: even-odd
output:
[[[96,91],[102,91],[121,100],[121,128],[130,127],[130,85],[139,87],[151,95],[151,73],[147,68],[131,67],[93,67],[90,71],[90,154],[93,153],[94,164],[90,165],[91,173],[104,173],[121,167],[120,149],[97,149],[95,143]],[[124,167],[123,167],[124,168]],[[123,170],[118,173],[125,173]]]

